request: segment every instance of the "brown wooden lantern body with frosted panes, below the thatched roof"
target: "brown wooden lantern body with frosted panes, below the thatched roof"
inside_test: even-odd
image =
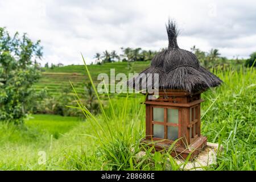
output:
[[[155,141],[157,151],[170,147],[177,139],[172,156],[191,159],[206,146],[207,137],[200,133],[200,92],[193,95],[179,90],[159,92],[154,100],[146,98],[146,138]]]

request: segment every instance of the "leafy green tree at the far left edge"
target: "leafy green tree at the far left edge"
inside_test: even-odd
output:
[[[18,32],[12,37],[0,28],[0,121],[21,123],[26,117],[35,94],[32,85],[40,78],[36,60],[41,57],[40,40],[33,43]]]

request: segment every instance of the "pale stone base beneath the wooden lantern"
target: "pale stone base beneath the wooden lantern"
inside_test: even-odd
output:
[[[205,167],[216,164],[217,150],[218,143],[207,142],[205,148],[192,161],[185,163],[184,160],[180,158],[174,159],[177,164],[180,164],[180,169],[202,171]],[[220,146],[219,150],[222,151],[223,147]],[[144,155],[146,155],[146,152],[144,151],[137,154],[138,158],[141,158]]]

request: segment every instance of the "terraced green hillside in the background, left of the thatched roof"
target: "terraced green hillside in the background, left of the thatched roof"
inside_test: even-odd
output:
[[[94,82],[97,81],[97,76],[100,73],[110,75],[110,69],[115,69],[115,75],[118,73],[139,73],[150,65],[150,61],[133,62],[129,65],[127,62],[106,63],[102,65],[88,65],[90,74]],[[68,65],[65,67],[43,68],[42,78],[35,84],[36,91],[47,88],[48,93],[52,96],[62,92],[64,87],[70,86],[69,80],[75,86],[77,92],[82,93],[84,85],[89,81],[86,75],[84,65]]]

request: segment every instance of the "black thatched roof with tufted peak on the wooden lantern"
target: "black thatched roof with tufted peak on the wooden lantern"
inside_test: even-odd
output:
[[[151,66],[133,78],[134,82],[130,80],[129,86],[135,88],[135,85],[139,85],[139,88],[135,88],[137,90],[147,89],[147,86],[151,87],[151,83],[142,81],[142,73],[146,75],[147,73],[158,73],[159,89],[179,89],[194,93],[220,85],[222,82],[220,78],[201,67],[196,55],[179,48],[176,39],[176,24],[169,21],[166,29],[168,48],[158,53],[152,59]]]

